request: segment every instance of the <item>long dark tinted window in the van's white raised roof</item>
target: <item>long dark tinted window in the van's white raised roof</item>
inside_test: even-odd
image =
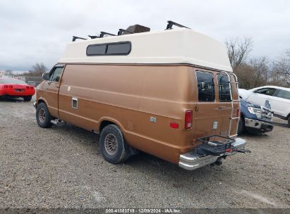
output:
[[[128,55],[130,51],[131,42],[90,44],[87,46],[87,56]]]

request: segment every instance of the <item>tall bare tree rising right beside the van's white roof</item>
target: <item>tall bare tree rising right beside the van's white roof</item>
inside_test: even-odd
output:
[[[236,37],[235,39],[227,39],[225,43],[231,68],[236,72],[238,67],[246,62],[250,51],[253,49],[253,41],[248,37],[243,39]]]

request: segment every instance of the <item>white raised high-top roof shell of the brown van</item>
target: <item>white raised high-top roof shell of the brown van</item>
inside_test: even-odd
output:
[[[86,55],[90,44],[126,41],[131,42],[127,56]],[[184,27],[70,42],[59,63],[187,63],[232,72],[224,44]]]

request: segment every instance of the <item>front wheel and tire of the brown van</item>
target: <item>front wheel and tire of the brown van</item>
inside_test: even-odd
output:
[[[47,105],[45,103],[39,103],[36,108],[36,121],[42,128],[52,127],[52,116],[50,115]]]

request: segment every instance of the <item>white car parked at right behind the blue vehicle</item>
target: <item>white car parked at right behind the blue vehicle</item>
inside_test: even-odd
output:
[[[274,116],[288,120],[290,127],[290,89],[267,85],[255,89],[238,89],[239,96],[251,103],[270,108]]]

